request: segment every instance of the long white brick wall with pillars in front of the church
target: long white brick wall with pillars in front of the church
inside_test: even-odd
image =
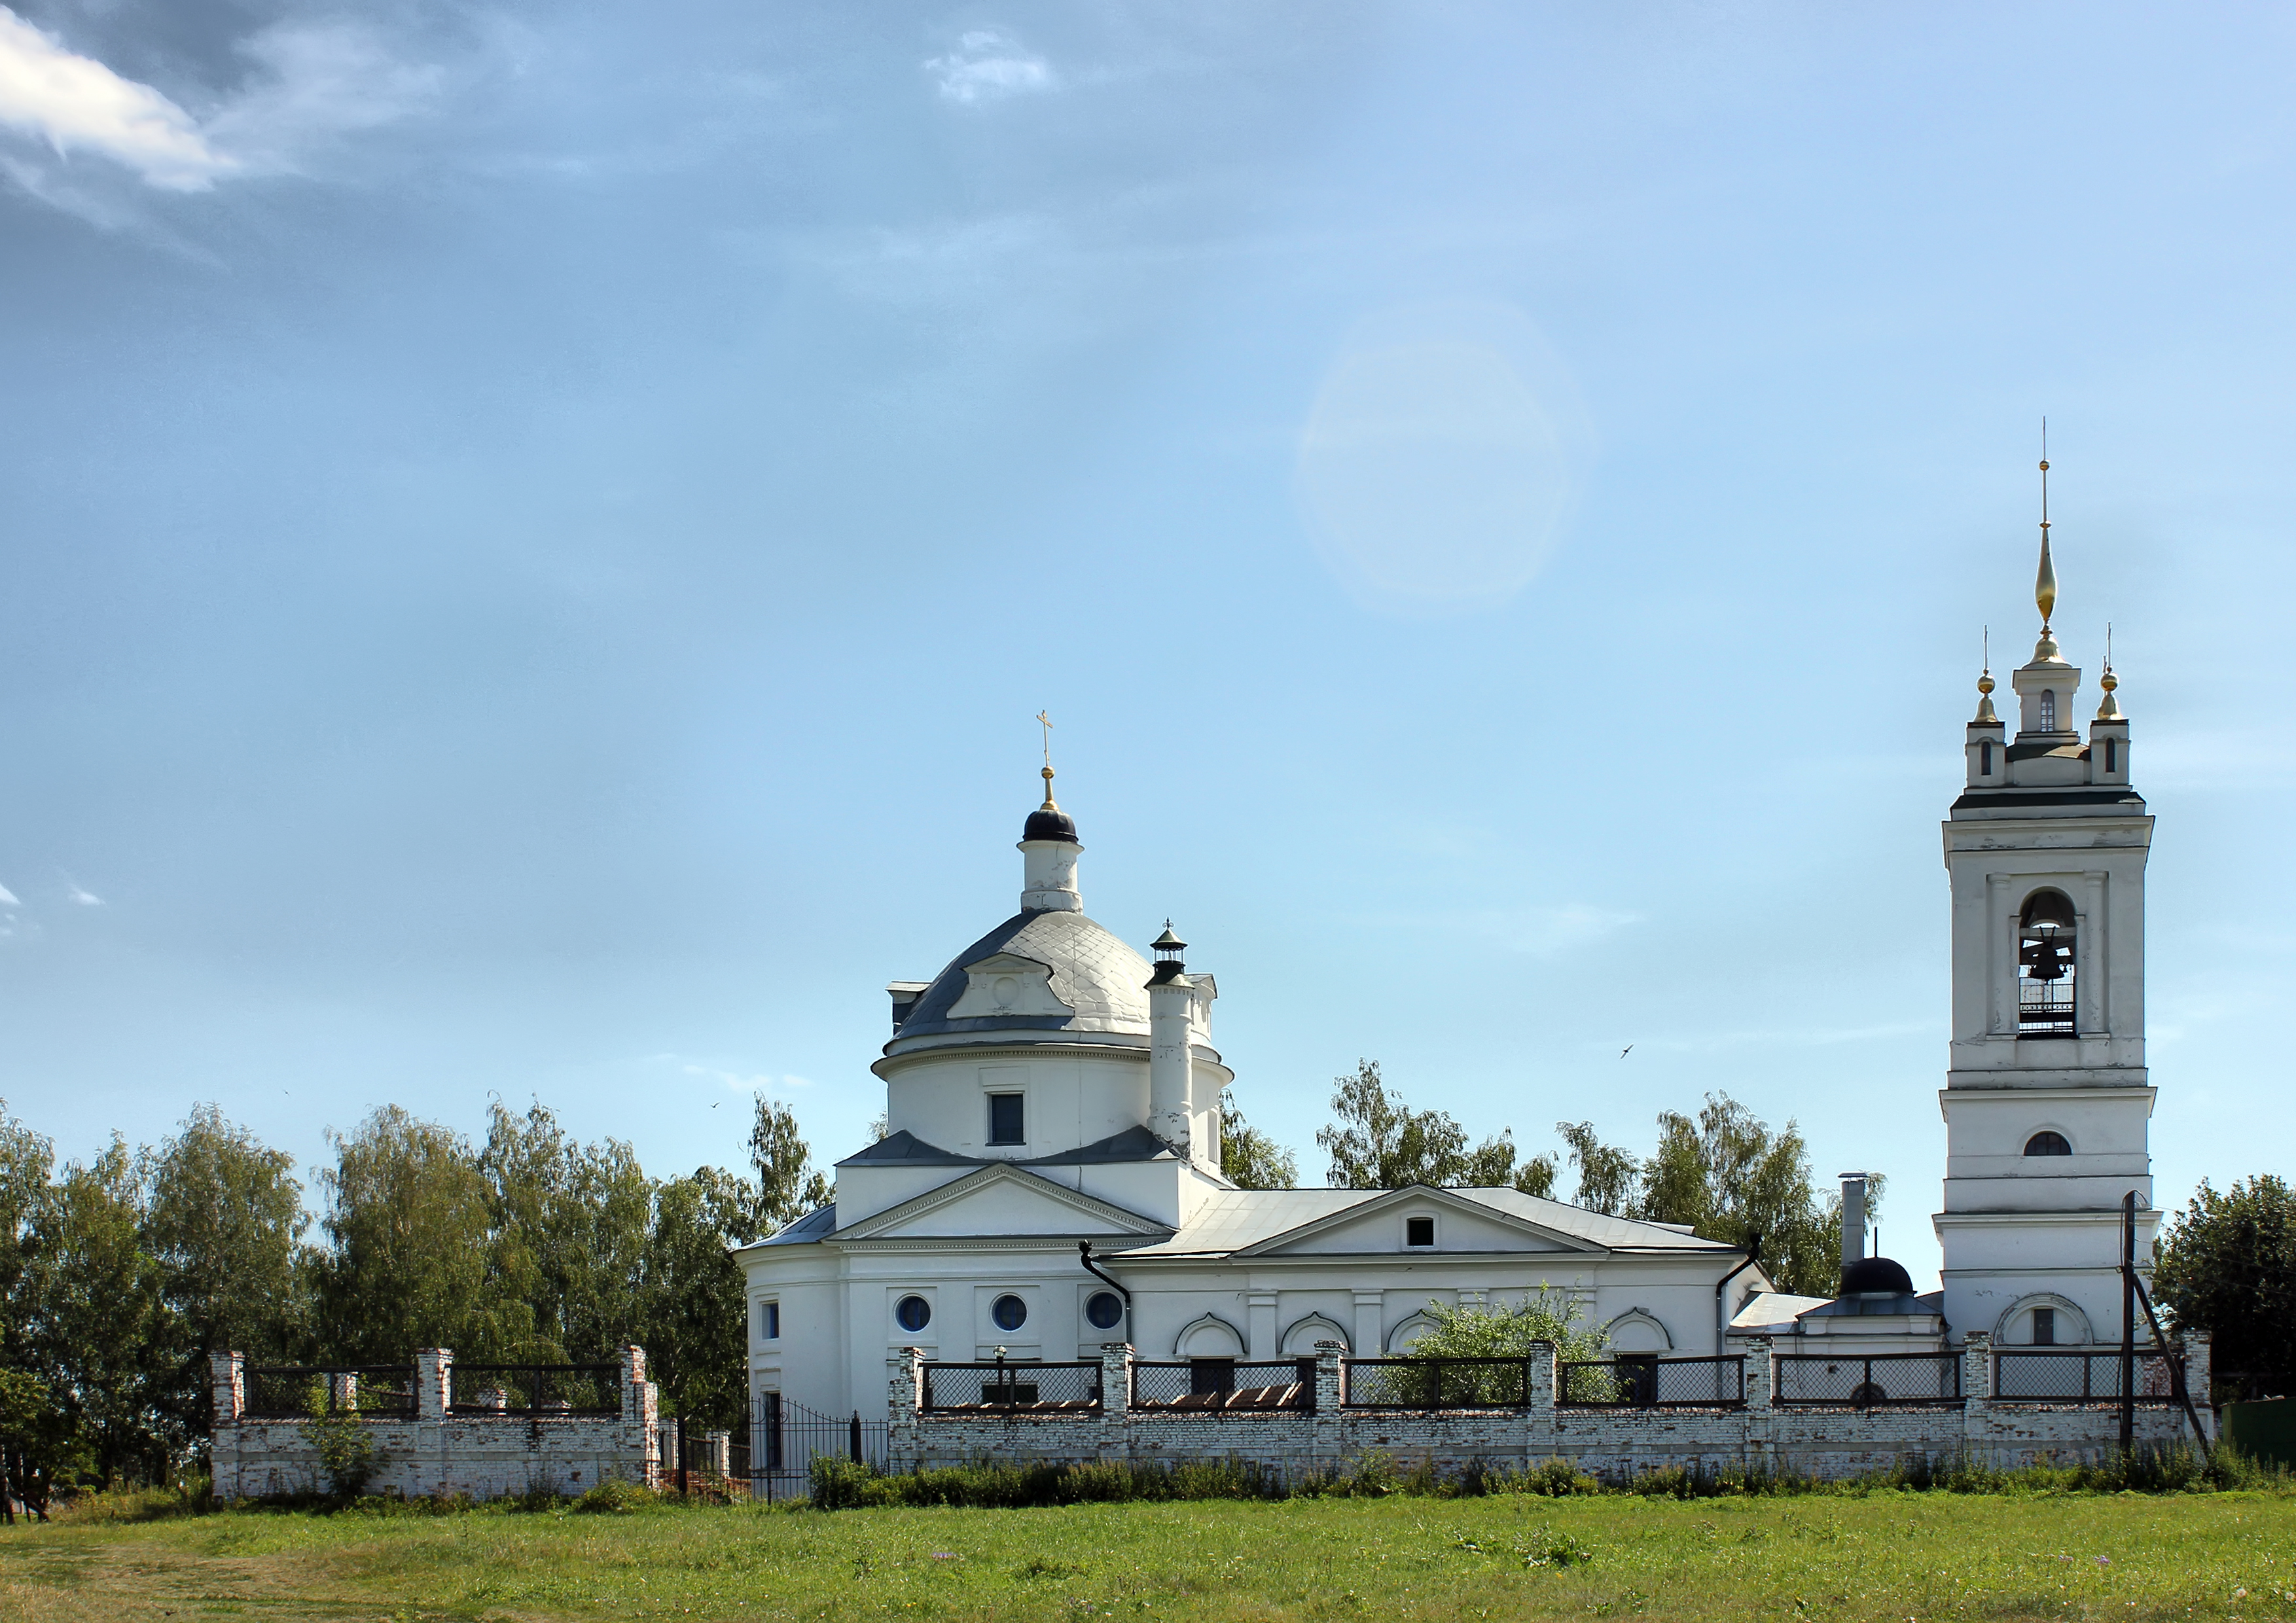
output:
[[[2183,1345],[2190,1389],[2209,1391],[2209,1345]],[[1653,1467],[1756,1469],[1844,1478],[1901,1460],[1968,1458],[1995,1467],[2096,1462],[2119,1446],[2119,1405],[2007,1403],[1993,1398],[1993,1348],[1972,1334],[1961,1354],[1963,1400],[1936,1407],[1791,1407],[1775,1400],[1777,1354],[1747,1354],[1743,1407],[1584,1410],[1554,1403],[1554,1350],[1531,1359],[1529,1405],[1504,1410],[1350,1410],[1341,1403],[1341,1348],[1316,1359],[1316,1407],[1281,1412],[1173,1414],[1132,1410],[1132,1348],[1102,1350],[1097,1410],[1054,1414],[934,1414],[921,1410],[918,1350],[889,1359],[891,1467],[999,1462],[1182,1462],[1254,1460],[1286,1474],[1334,1469],[1368,1453],[1410,1467],[1421,1458],[1456,1474],[1472,1460],[1527,1467],[1564,1458],[1605,1481]],[[1017,1366],[1024,1368],[1024,1366]],[[2200,1407],[2202,1426],[2213,1416]],[[2138,1444],[2193,1442],[2177,1403],[2140,1400]]]

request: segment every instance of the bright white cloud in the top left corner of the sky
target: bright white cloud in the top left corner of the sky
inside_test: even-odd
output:
[[[207,191],[239,168],[184,108],[0,7],[0,124],[55,154],[99,152],[163,191]]]

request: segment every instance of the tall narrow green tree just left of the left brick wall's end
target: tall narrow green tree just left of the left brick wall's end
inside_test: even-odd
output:
[[[32,1219],[25,1341],[106,1488],[161,1481],[186,1446],[163,1396],[179,1368],[165,1272],[142,1247],[142,1187],[126,1141],[69,1164]]]

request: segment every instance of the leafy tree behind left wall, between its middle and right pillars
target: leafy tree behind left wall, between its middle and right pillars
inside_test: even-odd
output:
[[[535,1102],[501,1100],[478,1155],[503,1286],[535,1325],[535,1352],[608,1364],[636,1338],[654,1185],[620,1139],[576,1143]]]

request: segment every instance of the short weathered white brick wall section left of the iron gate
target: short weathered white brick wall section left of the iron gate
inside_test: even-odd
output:
[[[248,1414],[248,1366],[239,1352],[209,1354],[216,1398],[214,1474],[218,1499],[321,1492],[326,1474],[301,1419]],[[365,1416],[358,1426],[377,1446],[367,1492],[471,1494],[498,1499],[535,1488],[585,1492],[602,1481],[659,1485],[657,1391],[645,1380],[645,1350],[620,1359],[620,1414],[537,1410],[455,1410],[455,1354],[416,1354],[413,1416]],[[344,1377],[333,1375],[335,1403]]]

